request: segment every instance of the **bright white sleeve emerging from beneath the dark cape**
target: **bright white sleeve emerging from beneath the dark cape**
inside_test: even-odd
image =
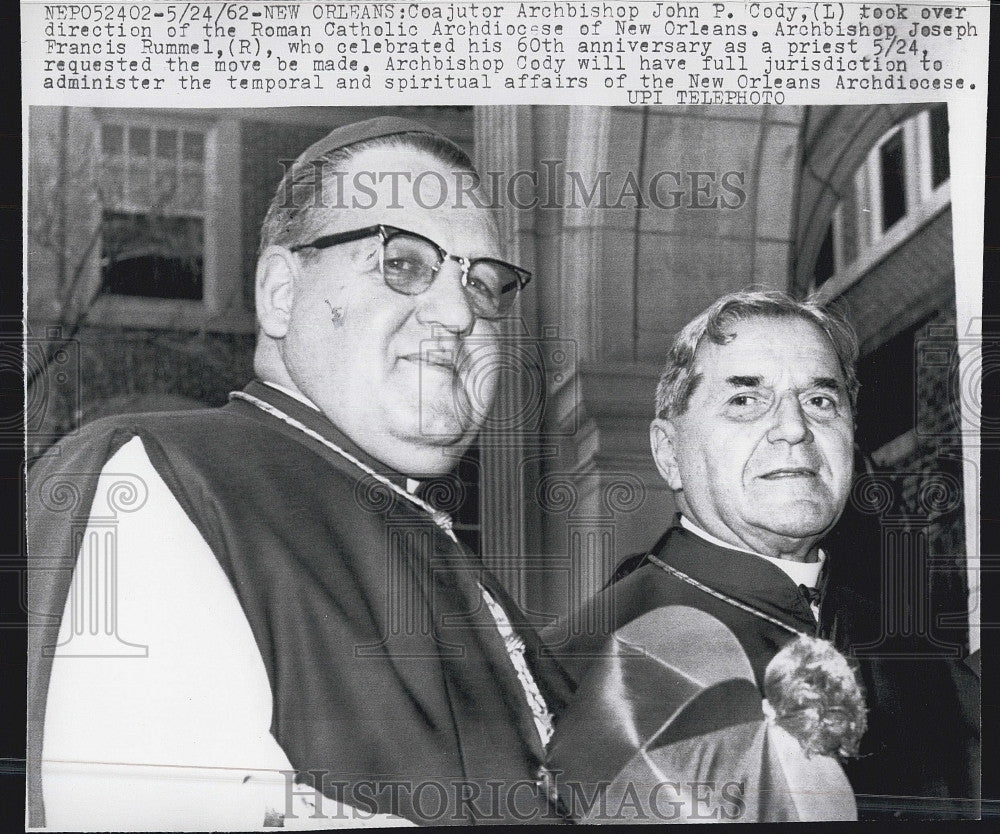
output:
[[[229,579],[133,438],[101,472],[60,625],[43,735],[47,827],[245,830],[288,811],[289,827],[337,825],[309,819],[301,789],[289,789],[271,711]],[[334,804],[323,800],[326,815]]]

